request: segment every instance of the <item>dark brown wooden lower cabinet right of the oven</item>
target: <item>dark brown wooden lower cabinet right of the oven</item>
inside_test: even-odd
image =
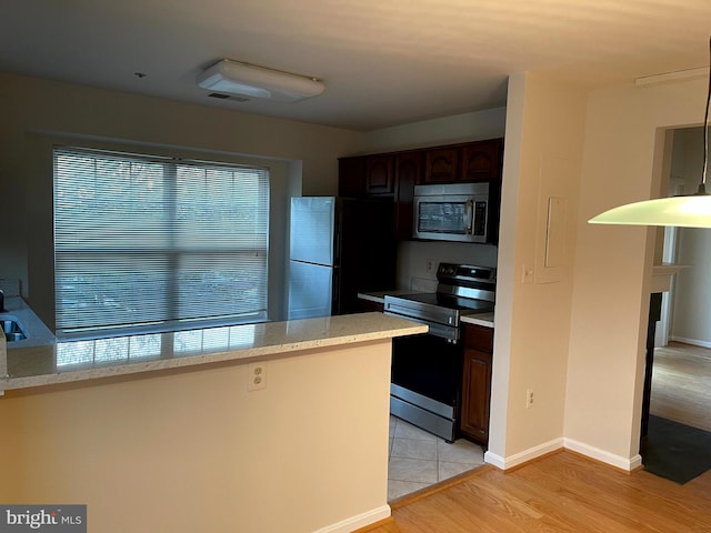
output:
[[[464,324],[464,375],[462,383],[461,433],[487,447],[491,405],[493,328]]]

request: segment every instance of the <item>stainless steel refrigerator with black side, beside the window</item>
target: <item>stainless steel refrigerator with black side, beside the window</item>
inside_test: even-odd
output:
[[[358,293],[394,289],[392,203],[291,199],[289,320],[359,311]]]

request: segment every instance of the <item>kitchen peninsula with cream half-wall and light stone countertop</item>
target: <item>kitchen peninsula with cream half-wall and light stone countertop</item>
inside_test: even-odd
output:
[[[387,517],[391,339],[425,329],[363,313],[11,348],[0,501],[87,504],[107,533]]]

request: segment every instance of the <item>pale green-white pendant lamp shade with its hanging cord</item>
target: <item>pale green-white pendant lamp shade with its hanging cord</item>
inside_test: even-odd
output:
[[[711,38],[709,39],[711,62]],[[711,69],[707,110],[703,118],[703,168],[701,183],[694,194],[660,198],[643,202],[628,203],[593,217],[591,224],[623,225],[675,225],[681,228],[711,228],[711,195],[707,193],[707,169],[709,164],[709,103],[711,102]]]

